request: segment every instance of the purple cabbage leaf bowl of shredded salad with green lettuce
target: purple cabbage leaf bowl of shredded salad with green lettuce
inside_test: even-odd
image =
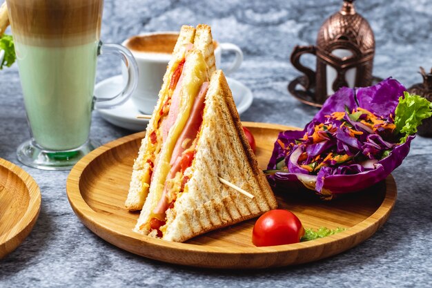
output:
[[[431,111],[392,78],[340,88],[303,131],[279,133],[264,172],[276,188],[304,186],[327,200],[366,189],[402,163]]]

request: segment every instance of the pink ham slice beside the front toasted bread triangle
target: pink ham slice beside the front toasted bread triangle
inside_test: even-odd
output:
[[[175,173],[177,173],[180,170],[181,153],[183,153],[187,148],[182,146],[184,140],[190,139],[189,143],[192,144],[192,141],[197,137],[199,126],[201,126],[202,124],[202,113],[204,111],[204,106],[205,106],[204,102],[206,100],[208,85],[209,82],[204,82],[201,88],[199,89],[198,95],[197,97],[195,97],[195,101],[193,103],[193,108],[192,111],[190,112],[189,119],[186,122],[183,131],[181,131],[179,139],[177,139],[177,142],[175,143],[173,154],[171,155],[171,161],[170,161],[171,169],[170,172],[168,173],[168,176],[166,177],[167,180],[173,178]],[[161,199],[157,203],[157,206],[153,210],[153,213],[157,213],[157,214],[164,213],[166,209],[168,209],[169,203],[168,203],[167,195],[168,195],[168,188],[165,185],[164,191],[162,191]]]

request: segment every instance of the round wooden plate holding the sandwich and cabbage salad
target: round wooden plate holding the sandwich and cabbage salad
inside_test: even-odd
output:
[[[257,142],[262,169],[279,131],[292,128],[244,122]],[[393,177],[362,193],[323,202],[309,193],[277,195],[279,208],[293,211],[306,228],[345,227],[333,236],[273,247],[255,247],[255,219],[184,243],[132,232],[138,213],[124,209],[132,164],[144,133],[110,142],[86,155],[70,172],[66,189],[72,209],[94,233],[115,246],[147,258],[195,267],[248,269],[295,265],[333,256],[371,237],[386,222],[396,200]],[[288,192],[288,191],[287,191]]]

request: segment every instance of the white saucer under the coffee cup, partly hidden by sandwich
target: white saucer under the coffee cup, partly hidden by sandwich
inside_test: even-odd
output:
[[[244,86],[244,84],[235,79],[227,77],[226,80],[228,81],[228,85],[233,93],[237,111],[239,111],[239,114],[242,114],[244,111],[248,110],[252,104],[252,92],[249,88]],[[95,96],[101,98],[110,97],[119,93],[123,87],[124,84],[121,75],[110,77],[96,84]],[[137,115],[142,113],[140,113],[137,107],[135,107],[131,99],[116,108],[99,109],[97,112],[99,112],[101,117],[111,124],[133,131],[143,131],[148,123],[148,119],[136,118]]]

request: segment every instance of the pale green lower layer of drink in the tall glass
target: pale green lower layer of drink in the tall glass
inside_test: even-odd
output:
[[[15,50],[37,144],[56,151],[84,144],[90,132],[97,43],[46,48],[15,41]]]

